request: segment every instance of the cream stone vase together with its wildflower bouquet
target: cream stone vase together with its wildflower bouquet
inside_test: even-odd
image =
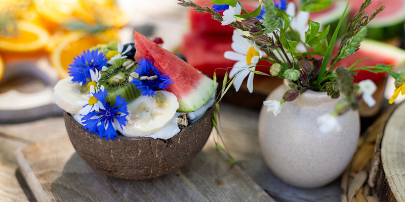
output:
[[[321,30],[319,23],[308,19],[308,12],[329,7],[331,0],[304,1],[298,9],[294,3],[287,5],[286,0],[260,0],[251,13],[234,0],[215,0],[213,8],[179,2],[235,28],[233,51],[225,52],[224,57],[237,62],[229,72],[230,79],[225,75],[218,102],[231,85],[237,91],[246,77],[250,92],[255,74],[285,79],[284,85],[264,101],[259,142],[267,165],[287,183],[321,186],[346,168],[359,135],[359,102],[364,100],[369,106],[376,103],[372,97],[376,85],[371,80],[354,83],[356,71],[386,72],[394,77],[397,90],[390,103],[400,90],[405,93],[405,72],[394,72],[392,65],[356,67],[367,59],[347,68],[338,65],[359,49],[367,36],[366,25],[384,9],[381,6],[374,13],[364,12],[370,0],[361,4],[338,46],[337,36],[348,4],[335,30],[330,25]],[[333,34],[328,38],[330,32]],[[259,61],[268,62],[269,72],[256,71]]]

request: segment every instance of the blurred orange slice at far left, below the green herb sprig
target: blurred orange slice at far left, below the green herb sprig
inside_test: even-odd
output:
[[[30,22],[19,21],[17,33],[0,35],[0,49],[13,52],[28,52],[44,47],[48,42],[49,33]]]

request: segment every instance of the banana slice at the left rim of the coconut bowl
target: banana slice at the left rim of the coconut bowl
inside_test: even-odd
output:
[[[79,114],[82,105],[77,101],[85,100],[80,93],[80,84],[73,83],[71,77],[60,80],[54,87],[54,98],[57,106],[70,114]]]

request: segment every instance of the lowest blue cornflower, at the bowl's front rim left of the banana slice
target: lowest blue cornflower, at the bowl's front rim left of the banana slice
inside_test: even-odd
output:
[[[84,129],[89,129],[89,133],[100,135],[100,139],[103,137],[113,140],[114,137],[118,138],[116,126],[123,129],[126,117],[128,115],[127,104],[125,98],[121,98],[121,95],[116,95],[114,106],[111,106],[109,102],[106,102],[107,89],[100,90],[98,93],[93,93],[93,96],[101,102],[100,109],[98,111],[90,112],[82,118]]]

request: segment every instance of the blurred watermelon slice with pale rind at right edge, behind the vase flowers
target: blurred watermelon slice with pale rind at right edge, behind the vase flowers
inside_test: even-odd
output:
[[[405,51],[398,47],[378,42],[375,40],[366,39],[361,42],[360,49],[352,56],[349,56],[339,62],[338,66],[349,67],[357,60],[363,58],[372,58],[372,60],[365,60],[356,65],[361,66],[375,66],[376,64],[395,65],[395,69],[405,65]],[[365,79],[371,79],[374,82],[383,78],[384,74],[374,74],[368,71],[360,70],[357,76],[354,77],[354,82],[360,82]]]

